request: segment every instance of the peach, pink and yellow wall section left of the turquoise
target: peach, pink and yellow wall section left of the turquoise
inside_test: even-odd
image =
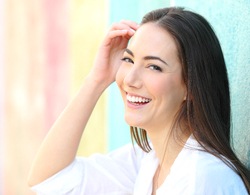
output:
[[[0,194],[28,195],[32,159],[92,65],[106,32],[108,2],[0,2]],[[106,151],[105,110],[104,95],[79,155]]]

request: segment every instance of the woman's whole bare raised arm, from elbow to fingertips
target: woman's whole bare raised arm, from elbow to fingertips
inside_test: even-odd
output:
[[[30,170],[30,186],[51,177],[74,160],[89,117],[103,91],[114,81],[122,53],[136,29],[137,25],[130,21],[112,26],[81,89],[43,141]]]

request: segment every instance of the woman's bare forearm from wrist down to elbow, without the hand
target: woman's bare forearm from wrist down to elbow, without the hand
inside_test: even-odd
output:
[[[30,171],[30,186],[47,179],[74,160],[84,128],[104,89],[90,78],[85,80],[42,143]]]

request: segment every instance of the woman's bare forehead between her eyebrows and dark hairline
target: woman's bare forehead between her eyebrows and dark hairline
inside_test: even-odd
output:
[[[177,56],[177,46],[172,35],[156,23],[140,26],[131,38],[128,48],[133,52]]]

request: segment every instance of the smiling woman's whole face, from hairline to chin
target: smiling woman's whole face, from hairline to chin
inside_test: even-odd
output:
[[[146,130],[170,127],[186,96],[174,39],[155,23],[143,24],[122,61],[116,82],[126,122]]]

